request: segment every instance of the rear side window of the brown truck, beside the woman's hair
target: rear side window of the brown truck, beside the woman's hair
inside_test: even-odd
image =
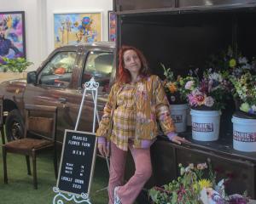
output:
[[[112,70],[113,53],[91,51],[84,65],[82,82],[88,82],[91,77],[94,77],[100,84],[99,91],[108,92]]]

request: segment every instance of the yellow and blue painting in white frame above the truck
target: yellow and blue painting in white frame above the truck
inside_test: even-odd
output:
[[[55,48],[102,41],[102,13],[54,14]]]

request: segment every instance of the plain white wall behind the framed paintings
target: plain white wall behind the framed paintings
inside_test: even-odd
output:
[[[55,12],[102,12],[102,40],[108,41],[108,10],[113,0],[0,0],[0,11],[25,11],[26,58],[38,65],[54,49]]]

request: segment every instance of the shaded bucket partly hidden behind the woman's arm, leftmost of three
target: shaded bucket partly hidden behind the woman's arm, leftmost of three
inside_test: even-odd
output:
[[[187,110],[189,106],[184,105],[171,105],[170,111],[172,116],[172,121],[176,127],[176,133],[185,132],[187,129]]]

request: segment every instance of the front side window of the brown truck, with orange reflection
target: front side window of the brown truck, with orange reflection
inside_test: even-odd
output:
[[[68,87],[75,65],[76,52],[55,54],[39,75],[39,83],[55,87]]]

